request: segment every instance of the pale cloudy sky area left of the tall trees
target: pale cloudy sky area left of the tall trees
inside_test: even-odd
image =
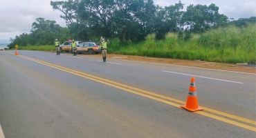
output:
[[[66,26],[64,19],[60,18],[62,12],[53,10],[51,0],[0,0],[0,3],[0,39],[30,33],[32,23],[39,17]]]

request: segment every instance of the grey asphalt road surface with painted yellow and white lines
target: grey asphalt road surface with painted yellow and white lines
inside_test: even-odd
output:
[[[199,106],[184,105],[195,77]],[[0,51],[0,137],[255,137],[255,74]]]

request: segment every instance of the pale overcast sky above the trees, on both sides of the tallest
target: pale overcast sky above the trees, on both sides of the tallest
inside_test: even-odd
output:
[[[64,19],[60,18],[62,12],[53,10],[50,2],[51,0],[0,0],[0,39],[14,39],[16,35],[30,33],[32,23],[39,17],[54,20],[65,27]],[[179,3],[179,0],[154,0],[155,5],[162,7],[174,3]],[[228,18],[256,17],[255,0],[183,0],[181,3],[185,4],[183,10],[190,4],[209,6],[210,3],[214,3],[219,7],[219,13],[225,14]]]

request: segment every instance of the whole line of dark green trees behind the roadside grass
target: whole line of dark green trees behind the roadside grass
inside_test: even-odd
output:
[[[98,41],[100,36],[137,42],[152,33],[156,39],[164,39],[167,32],[177,32],[186,40],[191,33],[202,34],[210,28],[255,22],[255,17],[230,21],[219,14],[214,3],[190,5],[186,10],[181,1],[161,7],[153,0],[68,0],[51,1],[51,6],[63,13],[60,17],[66,21],[66,28],[56,21],[37,18],[30,34],[10,38],[8,47],[53,45],[55,39],[61,43],[67,39]]]

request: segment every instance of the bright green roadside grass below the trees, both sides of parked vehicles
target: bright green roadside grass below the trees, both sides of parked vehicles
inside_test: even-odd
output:
[[[145,41],[120,44],[118,38],[110,39],[109,54],[137,55],[172,59],[215,61],[222,63],[256,62],[256,24],[237,28],[212,29],[199,34],[191,34],[189,40],[179,38],[177,33],[168,33],[163,40],[155,40],[149,34]],[[54,46],[26,46],[19,50],[55,50]]]

